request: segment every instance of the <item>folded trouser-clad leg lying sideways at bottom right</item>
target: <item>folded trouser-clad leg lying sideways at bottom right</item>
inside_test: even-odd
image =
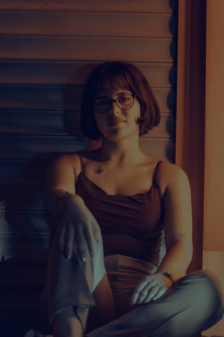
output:
[[[86,337],[193,337],[223,316],[212,279],[185,276],[160,299],[139,306]]]

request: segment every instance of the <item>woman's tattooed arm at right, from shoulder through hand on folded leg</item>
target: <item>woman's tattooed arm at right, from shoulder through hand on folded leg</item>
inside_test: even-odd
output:
[[[166,255],[156,272],[145,277],[135,289],[131,304],[144,304],[160,298],[172,283],[183,277],[192,258],[192,214],[189,181],[181,168],[162,163],[158,188],[164,209]],[[173,282],[172,282],[173,281]]]

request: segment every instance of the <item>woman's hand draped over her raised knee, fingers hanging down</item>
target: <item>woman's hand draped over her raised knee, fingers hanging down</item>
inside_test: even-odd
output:
[[[101,239],[99,225],[78,195],[66,195],[64,212],[60,223],[59,247],[66,258],[72,257],[74,242],[81,261],[86,261],[86,244],[94,255],[93,240]]]

